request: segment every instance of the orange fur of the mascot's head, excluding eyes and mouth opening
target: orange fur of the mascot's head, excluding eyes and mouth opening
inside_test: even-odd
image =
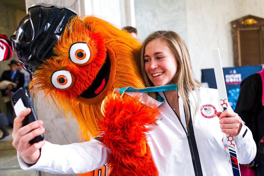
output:
[[[47,59],[39,66],[30,83],[34,94],[44,91],[59,110],[68,118],[71,113],[79,123],[81,140],[96,137],[98,120],[102,119],[100,112],[103,98],[114,88],[132,86],[143,88],[144,83],[136,62],[139,42],[126,32],[117,29],[110,23],[93,16],[73,18],[54,47],[55,56]],[[70,46],[76,42],[86,42],[91,46],[93,58],[87,65],[76,65],[69,58]],[[111,60],[111,69],[107,86],[100,96],[93,99],[80,97],[89,85],[93,83],[96,74],[105,62],[106,51]],[[111,55],[111,56],[110,56]],[[114,61],[113,61],[114,60]],[[114,63],[115,62],[115,63]],[[51,75],[56,70],[68,70],[74,77],[74,84],[69,89],[57,89],[51,84]],[[114,71],[113,71],[114,70]],[[115,74],[115,75],[114,75]]]

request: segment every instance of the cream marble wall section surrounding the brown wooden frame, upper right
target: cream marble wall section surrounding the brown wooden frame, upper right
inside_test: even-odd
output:
[[[223,67],[233,66],[231,21],[253,15],[264,18],[263,0],[186,0],[188,49],[198,80],[213,68],[211,49],[219,48]]]

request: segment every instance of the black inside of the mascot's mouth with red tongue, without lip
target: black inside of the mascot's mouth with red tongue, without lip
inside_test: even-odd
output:
[[[99,93],[101,93],[103,89],[106,87],[106,84],[108,82],[110,68],[111,68],[111,62],[109,55],[106,52],[105,63],[97,73],[95,79],[93,80],[93,83],[88,87],[88,89],[83,91],[83,93],[80,96],[83,98],[94,98]]]

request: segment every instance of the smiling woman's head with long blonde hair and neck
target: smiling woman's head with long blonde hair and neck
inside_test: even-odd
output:
[[[177,83],[178,91],[167,92],[172,93],[168,98],[171,98],[170,104],[173,109],[178,109],[176,107],[178,101],[175,101],[178,94],[183,97],[183,106],[188,109],[189,92],[202,87],[202,84],[193,77],[187,46],[176,32],[156,31],[150,34],[140,49],[140,65],[147,87]],[[150,92],[149,95],[155,99],[158,96],[155,92]],[[190,112],[186,111],[187,123],[189,116]]]

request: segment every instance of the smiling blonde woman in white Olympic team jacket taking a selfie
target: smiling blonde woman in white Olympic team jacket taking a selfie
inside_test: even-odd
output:
[[[159,175],[232,175],[224,148],[227,144],[224,133],[235,136],[241,164],[253,160],[256,145],[251,131],[233,111],[217,112],[221,111],[218,92],[201,88],[201,83],[193,78],[187,47],[178,34],[173,31],[150,34],[142,44],[140,65],[147,86],[177,83],[179,89],[150,94],[153,98],[164,98],[164,103],[159,106],[163,110],[162,116],[155,129],[147,134]],[[30,146],[28,141],[45,129],[42,121],[20,129],[21,121],[28,113],[27,109],[16,117],[12,134],[13,146],[19,152],[23,169],[82,173],[107,163],[111,151],[96,140],[66,146],[48,142],[44,145],[43,141]],[[32,129],[35,130],[30,132]],[[69,155],[64,156],[66,151]],[[88,161],[93,155],[96,155],[95,159]],[[80,162],[74,162],[76,158]],[[61,167],[64,160],[69,164]]]

